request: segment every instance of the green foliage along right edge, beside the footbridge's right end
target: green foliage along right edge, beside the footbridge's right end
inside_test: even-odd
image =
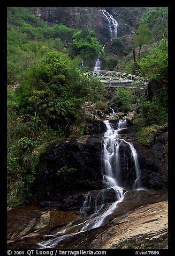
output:
[[[155,134],[150,127],[168,127],[168,42],[162,39],[145,58],[138,61],[138,72],[150,79],[145,96],[140,97],[140,113],[134,123],[139,141],[150,144]],[[145,127],[145,128],[144,128]]]

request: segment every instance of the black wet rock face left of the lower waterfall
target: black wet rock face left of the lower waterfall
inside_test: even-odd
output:
[[[62,202],[77,192],[102,189],[102,138],[82,136],[51,145],[41,158],[45,170],[31,188],[34,200]],[[74,172],[57,175],[62,168],[72,168]]]

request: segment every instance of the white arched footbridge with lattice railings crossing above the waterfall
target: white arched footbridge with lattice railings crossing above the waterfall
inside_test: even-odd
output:
[[[82,75],[86,75],[89,79],[98,77],[100,81],[104,82],[104,87],[124,87],[146,90],[149,82],[146,77],[108,70],[90,71]]]

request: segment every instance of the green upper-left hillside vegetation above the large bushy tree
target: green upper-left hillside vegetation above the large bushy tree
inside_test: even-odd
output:
[[[79,66],[84,60],[88,70],[89,61],[96,60],[102,47],[94,31],[73,30],[63,24],[49,27],[26,8],[7,8],[8,84],[20,82],[22,74],[52,50],[77,56]]]

